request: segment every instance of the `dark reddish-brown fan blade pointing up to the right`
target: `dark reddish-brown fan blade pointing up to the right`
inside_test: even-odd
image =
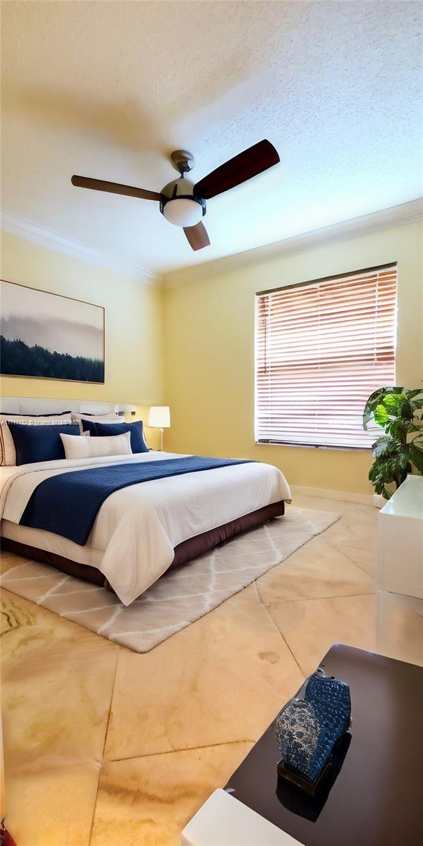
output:
[[[270,141],[259,141],[258,144],[229,159],[228,162],[221,164],[220,168],[211,171],[208,176],[197,182],[194,193],[204,200],[210,200],[211,197],[246,182],[257,173],[272,168],[279,161],[277,150]]]

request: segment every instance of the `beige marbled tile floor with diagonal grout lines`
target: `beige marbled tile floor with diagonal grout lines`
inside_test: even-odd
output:
[[[177,846],[332,642],[375,649],[376,509],[295,504],[342,518],[145,655],[3,591],[7,820],[19,846]]]

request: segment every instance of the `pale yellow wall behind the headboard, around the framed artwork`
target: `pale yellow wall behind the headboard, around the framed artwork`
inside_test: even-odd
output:
[[[1,258],[3,279],[103,305],[106,327],[104,385],[3,376],[3,396],[135,404],[146,420],[164,401],[162,291],[4,232]],[[146,436],[157,445],[157,431]]]

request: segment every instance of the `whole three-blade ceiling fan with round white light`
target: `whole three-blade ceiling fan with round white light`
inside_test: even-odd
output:
[[[193,250],[201,250],[210,244],[206,228],[201,222],[201,217],[206,214],[206,200],[211,200],[211,197],[246,182],[267,168],[272,168],[279,162],[279,157],[270,141],[262,140],[221,164],[195,184],[185,179],[185,173],[190,173],[194,168],[194,157],[191,153],[175,150],[170,161],[173,168],[179,171],[180,177],[165,185],[160,193],[86,176],[73,176],[71,182],[78,188],[91,188],[95,191],[107,191],[109,194],[124,194],[138,197],[140,200],[158,201],[162,215],[175,226],[184,228]]]

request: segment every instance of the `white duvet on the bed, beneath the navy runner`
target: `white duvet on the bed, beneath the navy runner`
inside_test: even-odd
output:
[[[139,453],[0,468],[2,534],[66,558],[97,566],[124,605],[168,569],[182,541],[278,500],[288,483],[271,464],[233,464],[130,485],[102,504],[85,547],[51,532],[19,526],[37,485],[52,475],[94,466],[176,459],[175,453]],[[5,530],[8,527],[8,530]]]

